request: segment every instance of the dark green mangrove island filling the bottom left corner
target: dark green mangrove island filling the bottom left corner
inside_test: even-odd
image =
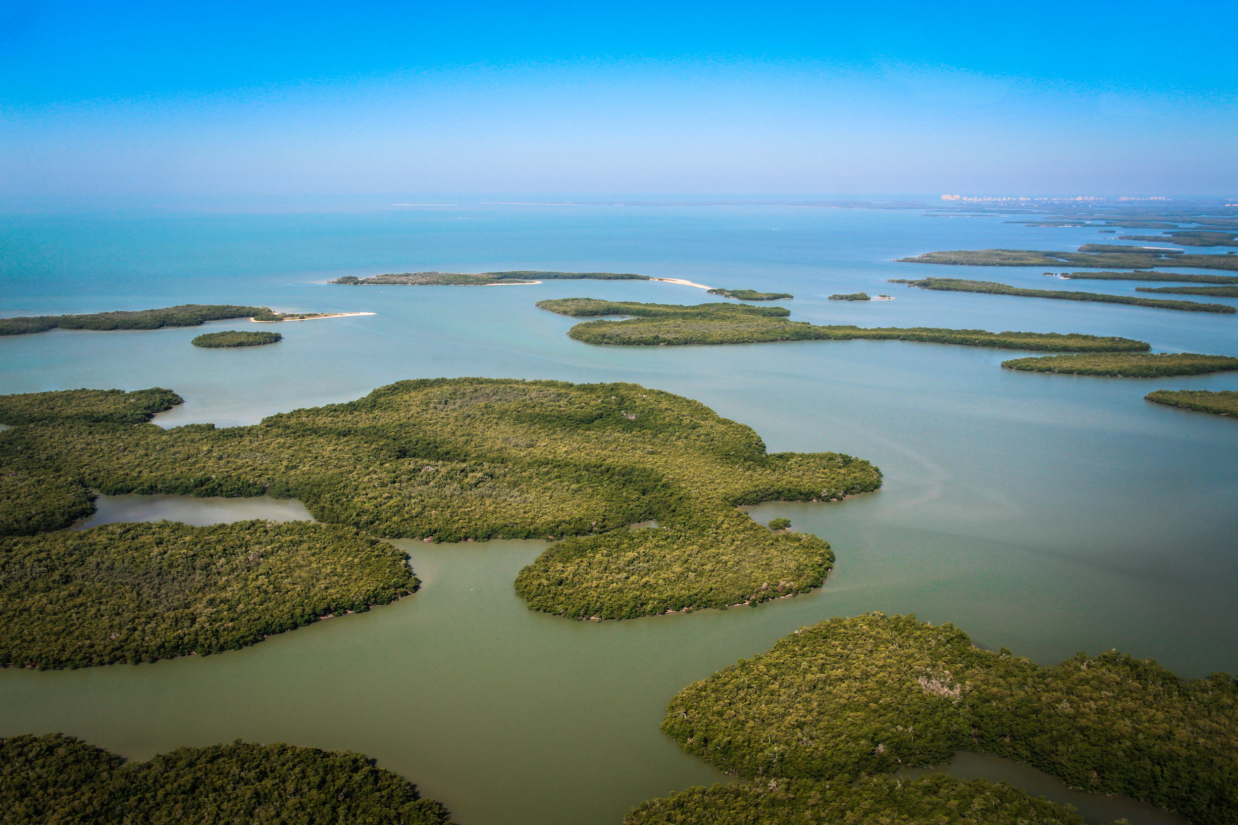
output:
[[[447,809],[360,753],[182,747],[124,759],[72,736],[0,740],[0,821],[451,825]]]

